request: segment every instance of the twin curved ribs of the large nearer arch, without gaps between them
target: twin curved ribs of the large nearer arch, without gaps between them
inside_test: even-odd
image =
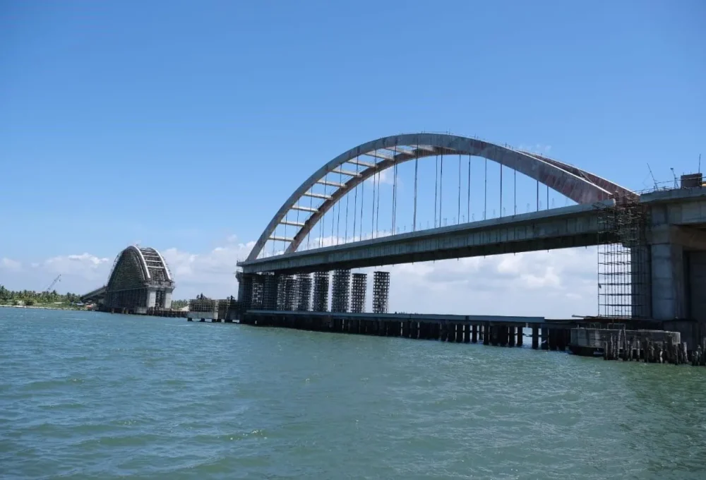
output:
[[[417,148],[417,145],[419,145],[419,148]],[[268,239],[270,239],[270,236],[275,232],[277,225],[286,217],[287,212],[292,210],[292,207],[297,205],[299,200],[304,197],[304,194],[321,181],[326,174],[334,173],[333,171],[342,164],[357,159],[357,157],[361,155],[370,154],[376,150],[395,150],[396,147],[407,147],[407,149],[398,151],[396,155],[393,155],[394,159],[385,157],[383,160],[380,160],[381,157],[378,157],[376,159],[379,160],[378,162],[371,167],[361,170],[358,176],[354,176],[345,181],[342,188],[337,188],[335,192],[330,194],[330,198],[324,200],[321,205],[318,205],[316,211],[312,212],[311,217],[304,222],[304,226],[300,227],[297,234],[294,235],[285,253],[297,251],[301,241],[311,232],[311,229],[318,223],[318,220],[320,220],[338,200],[343,198],[349,191],[352,191],[353,188],[366,179],[369,179],[374,174],[383,172],[385,169],[393,167],[395,164],[414,160],[415,158],[441,155],[442,153],[444,155],[460,154],[486,158],[504,165],[505,167],[515,169],[517,172],[525,174],[531,179],[537,180],[549,186],[549,188],[558,191],[571,200],[574,200],[576,203],[594,203],[599,200],[606,200],[616,192],[628,195],[633,194],[628,189],[606,179],[602,179],[597,175],[530,152],[513,150],[475,138],[444,133],[405,133],[402,135],[378,138],[377,140],[358,145],[355,148],[347,150],[347,152],[343,152],[341,155],[338,155],[333,160],[323,165],[323,167],[316,170],[316,172],[309,176],[309,179],[306,179],[306,181],[287,198],[287,201],[285,201],[280,210],[277,210],[277,213],[273,219],[270,220],[270,223],[261,234],[255,246],[253,246],[246,261],[256,260],[258,258]],[[409,150],[409,148],[412,148],[412,150]]]

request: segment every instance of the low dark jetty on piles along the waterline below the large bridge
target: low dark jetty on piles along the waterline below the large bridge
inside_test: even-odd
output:
[[[193,312],[201,321],[203,313]],[[197,316],[198,315],[198,316]],[[486,317],[488,318],[488,317]],[[191,318],[189,318],[191,320]],[[520,319],[517,319],[520,320]],[[213,318],[213,322],[220,321]],[[484,320],[483,317],[301,312],[247,311],[241,318],[244,325],[296,328],[321,332],[347,332],[360,335],[404,337],[419,340],[471,343],[481,340],[484,345],[522,346],[523,329],[532,329],[532,348],[592,355],[602,352],[606,359],[645,361],[671,364],[706,364],[706,338],[698,349],[689,352],[678,332],[664,330],[618,330],[617,328],[577,328],[569,320],[513,321],[505,318]],[[479,339],[480,336],[480,339]]]

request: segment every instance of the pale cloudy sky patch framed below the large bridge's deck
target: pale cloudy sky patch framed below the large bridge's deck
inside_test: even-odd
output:
[[[390,271],[391,311],[568,318],[597,312],[595,258],[575,248],[371,270]]]

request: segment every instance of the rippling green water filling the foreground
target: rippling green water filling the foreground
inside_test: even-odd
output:
[[[0,308],[0,477],[706,479],[706,368]]]

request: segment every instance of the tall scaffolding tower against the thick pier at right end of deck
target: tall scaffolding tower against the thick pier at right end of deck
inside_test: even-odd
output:
[[[598,217],[598,315],[650,317],[647,212],[638,196],[617,196]]]

